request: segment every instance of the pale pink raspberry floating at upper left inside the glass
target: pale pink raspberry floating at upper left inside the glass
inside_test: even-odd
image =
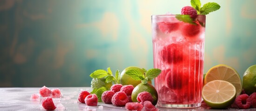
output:
[[[170,33],[172,31],[176,31],[179,29],[179,23],[166,23],[166,22],[159,22],[157,23],[158,29],[163,33]]]

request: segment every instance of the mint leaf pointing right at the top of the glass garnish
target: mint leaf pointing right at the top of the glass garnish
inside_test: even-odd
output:
[[[201,7],[200,13],[202,15],[206,15],[206,14],[209,14],[209,12],[214,12],[220,8],[221,8],[221,6],[217,3],[208,2],[208,3],[204,4],[203,7]]]

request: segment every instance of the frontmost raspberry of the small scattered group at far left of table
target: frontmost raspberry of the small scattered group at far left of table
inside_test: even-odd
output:
[[[54,105],[51,97],[46,97],[42,99],[42,106],[45,110],[55,110],[56,106]]]

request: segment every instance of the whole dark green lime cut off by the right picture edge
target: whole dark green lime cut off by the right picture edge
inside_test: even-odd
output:
[[[243,74],[242,87],[246,94],[256,92],[256,65],[250,66]]]

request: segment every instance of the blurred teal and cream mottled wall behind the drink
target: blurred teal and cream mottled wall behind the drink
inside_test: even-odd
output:
[[[110,67],[153,68],[151,15],[190,0],[0,0],[0,87],[90,86]],[[242,77],[256,64],[256,0],[217,2],[207,15],[204,73],[217,64]]]

